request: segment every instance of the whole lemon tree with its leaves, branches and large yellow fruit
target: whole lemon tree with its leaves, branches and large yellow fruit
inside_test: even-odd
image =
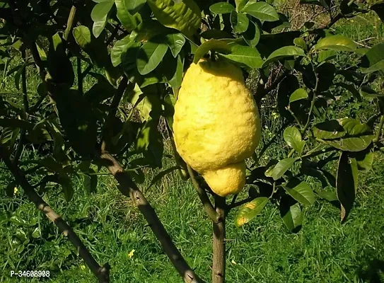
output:
[[[103,170],[185,282],[225,282],[226,225],[246,225],[267,205],[287,233],[315,201],[336,203],[345,221],[359,173],[384,149],[384,43],[333,27],[361,15],[383,20],[383,4],[301,5],[321,13],[293,25],[277,0],[0,1],[0,161],[15,179],[7,192],[20,185],[99,282],[117,271],[93,258],[42,192],[59,186],[70,202],[78,178],[98,193]],[[271,119],[279,128],[269,129]],[[163,168],[169,156],[174,164]],[[182,258],[139,189],[143,168],[158,169],[152,185],[173,171],[193,183],[213,224],[211,275]]]

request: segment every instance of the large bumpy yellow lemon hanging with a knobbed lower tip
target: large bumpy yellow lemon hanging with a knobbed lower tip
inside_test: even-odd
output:
[[[175,103],[178,153],[221,197],[245,185],[245,158],[260,141],[259,111],[239,67],[201,59],[187,69]]]

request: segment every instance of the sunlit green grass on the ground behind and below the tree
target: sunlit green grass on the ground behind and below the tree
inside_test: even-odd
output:
[[[383,25],[375,28],[372,23],[346,21],[336,30],[358,42],[368,37],[383,39]],[[37,89],[36,74],[31,72],[28,77],[29,88]],[[91,83],[86,81],[85,88]],[[10,76],[3,91],[13,92],[11,85]],[[353,105],[342,110],[347,113],[350,108]],[[263,115],[266,113],[272,112]],[[272,117],[263,126],[268,129],[264,139],[269,140],[279,124]],[[281,144],[281,139],[273,144],[267,159],[288,152]],[[339,209],[321,200],[303,210],[303,229],[296,234],[289,233],[272,204],[241,229],[235,227],[231,212],[227,282],[384,282],[383,161],[384,155],[376,154],[373,170],[359,175],[356,203],[345,224],[339,222]],[[165,168],[172,165],[167,161]],[[192,184],[172,173],[148,188],[154,175],[156,171],[146,171],[148,178],[141,190],[187,262],[209,281],[211,224]],[[6,196],[12,180],[0,164],[0,282],[95,282],[76,250],[26,200],[20,187],[13,197]],[[88,194],[78,180],[74,183],[71,202],[64,200],[58,187],[45,200],[69,221],[98,262],[110,263],[111,282],[181,282],[139,211],[118,192],[115,180],[101,175],[96,194]],[[40,281],[11,278],[11,270],[50,270],[51,275]]]

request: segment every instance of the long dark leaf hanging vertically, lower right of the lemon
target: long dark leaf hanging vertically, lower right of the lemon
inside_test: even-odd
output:
[[[354,204],[358,184],[358,173],[356,161],[348,158],[348,152],[343,151],[339,158],[336,177],[337,198],[342,207],[341,219],[347,219]]]

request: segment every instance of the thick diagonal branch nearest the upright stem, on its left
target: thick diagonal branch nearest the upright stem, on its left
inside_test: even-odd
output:
[[[161,246],[168,255],[168,258],[172,262],[173,266],[175,266],[176,270],[178,270],[184,281],[188,283],[203,282],[202,279],[194,274],[194,271],[187,264],[185,259],[182,258],[180,251],[176,248],[160,219],[158,219],[155,210],[151,207],[151,204],[149,204],[146,197],[144,197],[136,184],[131,180],[131,178],[129,178],[129,175],[124,172],[120,163],[118,163],[117,160],[106,151],[103,151],[100,154],[100,158],[103,163],[105,163],[105,167],[110,171],[110,173],[112,173],[117,182],[120,184],[118,187],[120,192],[127,197],[131,197],[136,207],[139,208],[156,238],[160,241]]]

